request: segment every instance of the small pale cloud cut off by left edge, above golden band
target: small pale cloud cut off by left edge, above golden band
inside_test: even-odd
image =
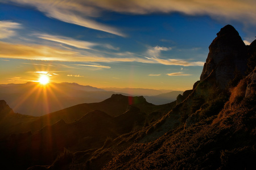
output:
[[[21,28],[19,23],[10,21],[0,21],[0,39],[6,39],[16,35],[14,29]]]

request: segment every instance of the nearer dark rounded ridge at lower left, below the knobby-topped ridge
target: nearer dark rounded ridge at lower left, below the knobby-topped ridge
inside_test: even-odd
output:
[[[13,134],[1,142],[1,154],[13,159],[17,165],[15,168],[51,164],[64,148],[72,151],[100,148],[107,138],[141,128],[145,120],[146,114],[135,107],[117,117],[93,111],[70,124],[61,119],[35,133]]]

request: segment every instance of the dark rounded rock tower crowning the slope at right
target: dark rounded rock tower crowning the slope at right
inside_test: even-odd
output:
[[[216,84],[224,89],[230,80],[238,75],[245,75],[246,53],[246,45],[239,33],[232,25],[226,25],[209,46],[209,54],[200,80],[212,75]]]

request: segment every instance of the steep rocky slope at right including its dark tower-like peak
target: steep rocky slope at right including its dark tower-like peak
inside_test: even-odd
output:
[[[255,50],[255,41],[245,46],[232,26],[222,28],[210,45],[200,82],[185,100],[178,97],[169,113],[115,138],[91,157],[73,153],[69,167],[254,169],[256,69],[250,68],[256,66],[251,62]]]

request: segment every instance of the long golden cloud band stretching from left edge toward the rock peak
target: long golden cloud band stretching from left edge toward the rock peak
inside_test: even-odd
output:
[[[111,53],[114,57],[106,57],[98,54],[81,54],[67,49],[59,49],[46,45],[31,44],[10,44],[0,41],[1,53],[0,58],[19,58],[43,61],[68,61],[68,62],[141,62],[141,63],[160,63],[163,65],[180,65],[180,66],[203,66],[204,62],[193,62],[184,59],[160,59],[158,57],[142,57],[137,54]],[[168,48],[155,48],[157,50],[165,50]],[[155,53],[155,52],[153,52]],[[157,52],[156,52],[157,53]],[[110,69],[109,66],[101,65],[83,65],[89,67],[98,67]]]

